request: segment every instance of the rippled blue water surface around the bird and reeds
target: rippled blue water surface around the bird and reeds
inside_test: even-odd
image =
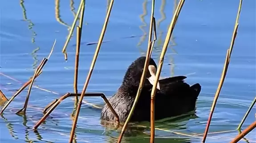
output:
[[[152,57],[158,62],[163,42],[178,0],[158,0],[155,4],[157,41]],[[73,3],[73,5],[72,5]],[[43,116],[42,109],[67,92],[73,93],[76,30],[67,47],[68,61],[61,50],[77,12],[80,0],[5,0],[0,3],[0,89],[10,98],[24,82],[33,76],[35,68],[48,57],[54,39],[53,54],[34,85],[54,93],[33,88],[26,119],[14,114],[23,106],[25,89],[5,110],[0,118],[0,142],[67,143],[73,120],[73,97],[65,99],[38,128],[31,130]],[[106,16],[110,0],[86,0],[78,90],[81,92]],[[186,0],[175,26],[170,46],[164,59],[162,77],[187,75],[189,84],[200,83],[202,91],[196,103],[196,116],[168,123],[158,123],[156,143],[200,143],[212,100],[219,84],[226,52],[230,46],[239,0]],[[72,9],[74,9],[72,11]],[[93,70],[87,92],[103,92],[109,98],[121,85],[127,67],[140,55],[145,55],[149,31],[151,1],[115,0]],[[143,36],[144,35],[144,36]],[[127,38],[134,36],[131,38]],[[239,19],[238,34],[228,73],[221,89],[207,143],[228,143],[256,96],[256,1],[244,0]],[[7,77],[8,76],[8,77]],[[11,79],[12,78],[12,79]],[[93,104],[104,103],[100,97],[85,97]],[[243,128],[256,120],[252,108]],[[76,142],[115,143],[120,130],[101,125],[100,110],[83,104],[77,123]],[[139,124],[141,126],[141,124]],[[137,127],[139,125],[136,125]],[[143,123],[149,127],[149,123]],[[176,133],[174,133],[176,132]],[[148,143],[149,128],[132,131],[123,138],[126,143]],[[256,143],[256,131],[246,135]],[[167,139],[163,139],[167,138]],[[245,142],[244,139],[241,143]]]

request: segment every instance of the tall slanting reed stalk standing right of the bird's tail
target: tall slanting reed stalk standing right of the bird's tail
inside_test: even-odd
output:
[[[225,77],[226,77],[226,74],[227,74],[227,71],[228,71],[228,64],[230,62],[231,53],[232,53],[233,46],[234,46],[235,39],[236,39],[236,35],[237,35],[237,29],[238,29],[238,25],[239,25],[238,20],[239,20],[239,16],[240,16],[241,7],[242,7],[242,2],[243,2],[243,0],[240,0],[240,4],[239,4],[239,7],[238,7],[238,12],[237,12],[237,16],[236,16],[236,23],[235,23],[235,27],[234,27],[234,31],[233,31],[233,35],[232,35],[232,39],[231,39],[231,43],[230,43],[230,47],[229,47],[229,50],[227,52],[227,56],[226,56],[226,59],[225,59],[223,71],[222,71],[221,78],[220,78],[219,85],[218,85],[218,89],[215,93],[215,97],[214,97],[213,103],[211,105],[211,111],[210,111],[210,115],[209,115],[209,118],[208,118],[208,122],[207,122],[207,125],[206,125],[206,128],[205,128],[205,131],[204,131],[202,143],[205,143],[205,140],[207,138],[207,133],[209,131],[209,127],[210,127],[210,124],[211,124],[212,114],[214,112],[214,109],[215,109],[215,106],[216,106],[216,103],[217,103],[217,100],[218,100],[218,97],[219,97],[220,90],[222,88],[223,82],[225,80]]]

